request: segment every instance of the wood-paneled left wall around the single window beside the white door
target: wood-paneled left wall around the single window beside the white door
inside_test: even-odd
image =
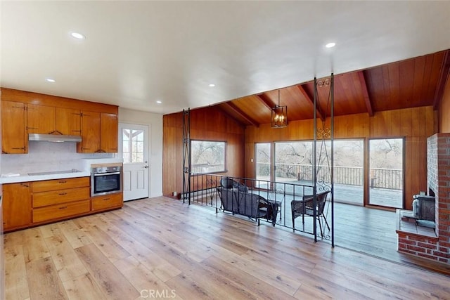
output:
[[[191,139],[226,141],[226,175],[243,177],[245,129],[214,107],[191,110]],[[183,113],[163,117],[162,193],[183,190]]]

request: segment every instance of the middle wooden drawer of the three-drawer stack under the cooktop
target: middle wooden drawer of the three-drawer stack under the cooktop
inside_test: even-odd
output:
[[[89,200],[91,190],[86,188],[69,188],[66,190],[51,190],[50,192],[33,193],[33,207],[45,207],[77,200]]]

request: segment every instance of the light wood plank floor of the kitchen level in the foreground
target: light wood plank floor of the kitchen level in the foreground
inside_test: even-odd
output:
[[[167,197],[4,235],[6,299],[450,299],[450,277]]]

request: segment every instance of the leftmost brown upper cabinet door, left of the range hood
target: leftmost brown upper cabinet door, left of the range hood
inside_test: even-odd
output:
[[[1,101],[1,150],[3,153],[22,154],[28,152],[25,107],[24,103]]]

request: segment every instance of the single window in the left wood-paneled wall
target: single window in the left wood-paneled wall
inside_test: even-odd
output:
[[[226,142],[191,141],[191,171],[218,173],[226,171]]]

